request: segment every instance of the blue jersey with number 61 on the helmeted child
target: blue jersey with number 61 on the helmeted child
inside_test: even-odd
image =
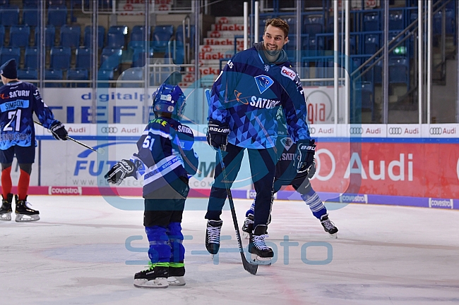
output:
[[[193,151],[194,136],[190,127],[172,118],[150,120],[137,142],[136,178],[143,176],[143,197],[181,177],[188,180],[198,168]],[[182,178],[182,179],[183,179]]]

